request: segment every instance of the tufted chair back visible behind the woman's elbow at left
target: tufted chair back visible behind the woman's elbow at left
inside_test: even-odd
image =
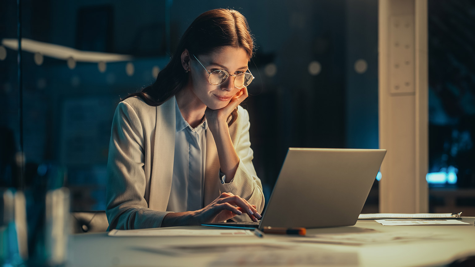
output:
[[[109,222],[105,210],[74,211],[71,212],[71,227],[75,234],[105,232],[109,227]]]

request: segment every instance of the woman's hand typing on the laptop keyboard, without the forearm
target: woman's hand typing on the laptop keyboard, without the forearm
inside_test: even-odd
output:
[[[247,200],[232,193],[222,193],[208,206],[197,210],[194,217],[196,224],[200,225],[202,223],[222,222],[243,213],[246,213],[253,221],[257,221],[262,217],[256,210],[256,206],[249,204]]]

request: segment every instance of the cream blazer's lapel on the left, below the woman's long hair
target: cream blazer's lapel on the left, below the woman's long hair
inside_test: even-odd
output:
[[[175,155],[175,96],[156,107],[149,208],[165,211],[170,198]]]

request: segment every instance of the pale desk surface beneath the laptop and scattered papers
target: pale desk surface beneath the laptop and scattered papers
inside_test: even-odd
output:
[[[356,264],[361,267],[409,267],[445,266],[453,260],[475,255],[475,217],[466,217],[463,221],[471,225],[436,225],[436,226],[382,226],[374,220],[358,220],[355,226],[307,229],[307,235],[328,233],[355,233],[367,231],[380,232],[411,232],[436,233],[442,238],[438,240],[419,240],[407,243],[384,243],[380,245],[347,246],[333,244],[306,243],[306,248],[315,253],[337,251],[356,255]],[[198,229],[204,227],[181,227]],[[207,228],[209,229],[209,228]],[[76,234],[70,238],[69,264],[72,267],[82,266],[209,266],[222,252],[208,252],[185,255],[170,255],[161,252],[163,246],[182,245],[214,245],[248,244],[262,242],[278,244],[293,242],[295,238],[285,235],[269,235],[257,237],[109,237],[107,233]],[[303,237],[300,237],[303,238]],[[298,246],[300,243],[293,243]],[[257,249],[258,250],[258,249]],[[257,250],[244,253],[251,255]],[[244,255],[247,257],[247,255]],[[281,265],[284,266],[284,265]],[[335,267],[335,265],[331,265]]]

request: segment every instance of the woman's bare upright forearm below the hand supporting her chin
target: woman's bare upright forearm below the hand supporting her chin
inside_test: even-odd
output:
[[[221,172],[226,175],[225,182],[229,183],[236,174],[239,165],[239,157],[234,149],[229,127],[226,122],[216,123],[213,127],[213,137],[218,150],[219,167]]]

